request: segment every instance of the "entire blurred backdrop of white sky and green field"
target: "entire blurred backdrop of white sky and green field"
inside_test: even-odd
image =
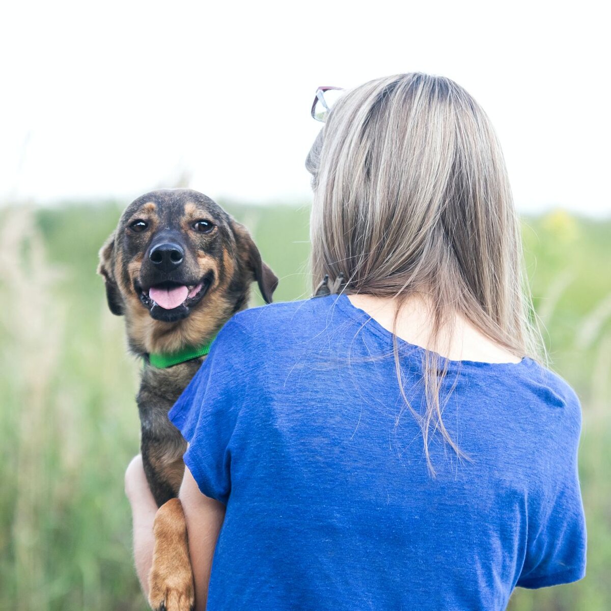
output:
[[[12,2],[0,10],[0,609],[146,609],[123,472],[139,363],[97,251],[158,187],[216,199],[307,298],[316,87],[449,76],[497,128],[552,367],[584,411],[587,577],[611,609],[609,44],[596,2]],[[255,298],[253,304],[260,303]]]

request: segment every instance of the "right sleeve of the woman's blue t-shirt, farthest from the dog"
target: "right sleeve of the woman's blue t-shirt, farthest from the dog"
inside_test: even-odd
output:
[[[581,410],[577,397],[571,403],[565,439],[549,457],[554,475],[544,485],[538,511],[529,512],[529,541],[517,583],[522,588],[568,584],[585,576],[586,529],[577,472]]]

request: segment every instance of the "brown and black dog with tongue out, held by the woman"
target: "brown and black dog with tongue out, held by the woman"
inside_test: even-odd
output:
[[[190,189],[152,191],[131,203],[100,250],[98,273],[111,312],[125,316],[130,351],[144,360],[137,395],[141,452],[160,508],[149,602],[156,610],[183,611],[194,602],[185,517],[176,498],[186,442],[167,412],[204,357],[159,368],[151,355],[206,345],[247,306],[251,282],[257,280],[269,303],[278,280],[246,228]],[[182,602],[176,606],[169,597]]]

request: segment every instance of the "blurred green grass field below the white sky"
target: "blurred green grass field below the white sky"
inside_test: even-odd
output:
[[[225,206],[280,277],[309,296],[307,206]],[[139,364],[106,307],[97,251],[112,203],[0,211],[0,609],[144,610],[131,562],[123,472],[138,451]],[[584,410],[580,477],[588,574],[518,590],[513,611],[611,609],[611,221],[563,211],[524,220],[552,367]]]

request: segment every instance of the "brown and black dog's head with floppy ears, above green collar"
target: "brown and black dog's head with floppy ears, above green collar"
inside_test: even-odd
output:
[[[267,302],[277,285],[246,228],[191,189],[131,203],[100,251],[98,272],[111,312],[126,315],[130,343],[144,352],[159,347],[155,338],[166,336],[162,349],[195,343],[197,329],[205,338],[246,305],[253,280]]]

